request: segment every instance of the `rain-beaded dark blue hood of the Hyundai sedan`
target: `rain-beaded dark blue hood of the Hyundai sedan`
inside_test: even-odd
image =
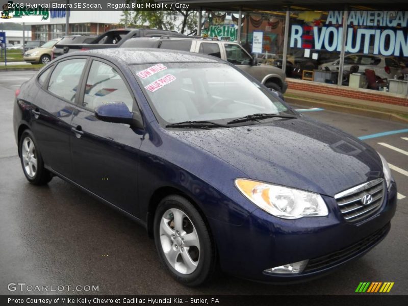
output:
[[[171,132],[236,167],[247,178],[328,196],[377,179],[381,160],[364,142],[312,119]]]

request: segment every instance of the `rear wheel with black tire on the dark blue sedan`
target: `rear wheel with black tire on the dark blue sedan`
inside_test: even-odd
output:
[[[23,148],[24,141],[28,140],[30,145],[33,145],[33,149],[31,150],[30,160],[34,157],[37,161],[36,166],[32,167],[31,169],[35,169],[30,173],[30,170],[27,170],[27,167],[30,168],[30,165],[27,164],[27,159],[25,158],[27,154],[25,152],[29,151]],[[18,144],[18,151],[20,154],[20,162],[22,171],[24,172],[25,177],[27,180],[34,185],[45,185],[53,178],[53,175],[44,168],[44,162],[42,160],[40,151],[38,150],[37,143],[35,141],[34,135],[30,130],[25,130],[20,137],[20,142]]]

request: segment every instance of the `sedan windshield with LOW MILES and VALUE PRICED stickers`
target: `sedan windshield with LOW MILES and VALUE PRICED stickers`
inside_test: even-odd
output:
[[[150,106],[166,123],[226,123],[253,114],[293,112],[269,90],[223,63],[132,65]]]

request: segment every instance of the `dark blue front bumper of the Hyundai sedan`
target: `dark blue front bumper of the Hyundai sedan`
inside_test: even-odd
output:
[[[212,220],[221,268],[262,282],[299,282],[327,274],[363,256],[390,230],[395,214],[395,183],[378,212],[359,223],[346,222],[332,197],[324,197],[327,217],[285,220],[257,209],[241,226]],[[233,228],[231,228],[233,227]],[[298,274],[264,272],[272,267],[309,260]]]

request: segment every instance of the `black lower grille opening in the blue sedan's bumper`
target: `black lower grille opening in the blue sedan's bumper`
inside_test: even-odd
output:
[[[380,242],[382,238],[384,238],[387,235],[388,231],[390,230],[390,227],[391,224],[388,223],[380,230],[374,232],[373,234],[364,238],[363,240],[354,243],[353,245],[350,245],[336,252],[309,260],[309,263],[303,270],[303,273],[328,268],[330,266],[334,266],[338,263],[341,263],[347,259],[350,259],[354,256],[357,256],[359,253],[364,252],[368,248],[373,247],[378,242]]]

